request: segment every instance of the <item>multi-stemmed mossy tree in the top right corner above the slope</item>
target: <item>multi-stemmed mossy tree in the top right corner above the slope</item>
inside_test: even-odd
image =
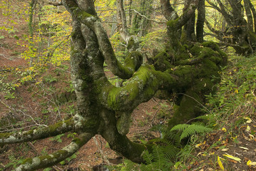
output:
[[[214,28],[210,21],[205,21],[211,33],[224,46],[231,46],[236,53],[250,55],[256,49],[256,11],[250,0],[210,1],[208,4],[218,11],[225,21],[225,29]],[[223,26],[222,26],[223,27]]]

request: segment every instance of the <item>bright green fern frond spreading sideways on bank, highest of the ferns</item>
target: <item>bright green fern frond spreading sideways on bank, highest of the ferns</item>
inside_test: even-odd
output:
[[[170,131],[173,130],[180,130],[182,131],[180,135],[180,141],[183,140],[183,138],[188,138],[191,135],[198,134],[198,133],[208,133],[212,131],[213,129],[207,128],[203,125],[188,125],[188,124],[179,124],[175,125]]]

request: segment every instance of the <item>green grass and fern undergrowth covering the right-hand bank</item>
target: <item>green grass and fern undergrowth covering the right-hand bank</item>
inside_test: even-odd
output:
[[[176,125],[171,130],[163,128],[167,139],[153,140],[153,152],[146,150],[142,156],[146,165],[125,160],[123,164],[111,167],[110,170],[233,170],[225,163],[227,160],[215,155],[211,149],[222,145],[220,140],[235,142],[240,128],[255,118],[256,56],[231,56],[220,75],[221,81],[216,85],[217,93],[207,95],[208,103],[202,109],[205,115],[195,118],[199,121],[191,125]],[[208,160],[205,161],[196,148],[204,145],[205,140],[217,133],[222,134],[219,141],[212,142],[210,147],[200,152]],[[252,130],[250,135],[254,136],[255,131]],[[184,140],[188,142],[185,145]],[[222,145],[217,149],[225,147],[226,145]]]

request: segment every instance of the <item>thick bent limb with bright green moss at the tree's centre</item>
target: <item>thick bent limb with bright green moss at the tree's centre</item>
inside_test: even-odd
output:
[[[97,85],[102,85],[98,81]],[[153,66],[143,64],[123,87],[115,87],[105,80],[100,95],[106,108],[119,111],[132,111],[138,104],[150,100],[160,88],[175,85],[176,78],[168,73],[155,71]]]

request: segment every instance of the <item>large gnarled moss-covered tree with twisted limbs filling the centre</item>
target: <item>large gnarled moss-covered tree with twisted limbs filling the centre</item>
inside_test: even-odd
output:
[[[154,95],[172,98],[177,95],[176,110],[169,126],[183,123],[200,114],[198,105],[205,103],[204,95],[213,91],[219,81],[218,71],[227,56],[213,42],[197,43],[186,39],[185,24],[195,13],[198,1],[190,1],[178,16],[170,1],[161,0],[163,14],[168,19],[168,43],[153,57],[142,63],[135,51],[137,43],[122,65],[113,51],[108,35],[98,19],[93,0],[63,0],[71,13],[71,76],[76,91],[76,115],[45,128],[21,133],[0,133],[1,145],[39,140],[62,133],[76,133],[71,144],[51,155],[29,158],[16,170],[37,170],[61,162],[73,155],[94,135],[102,135],[111,149],[133,162],[143,162],[143,150],[152,145],[131,142],[130,114]],[[131,51],[134,50],[134,51]],[[126,86],[113,86],[106,78],[103,63],[112,73],[126,79]]]

